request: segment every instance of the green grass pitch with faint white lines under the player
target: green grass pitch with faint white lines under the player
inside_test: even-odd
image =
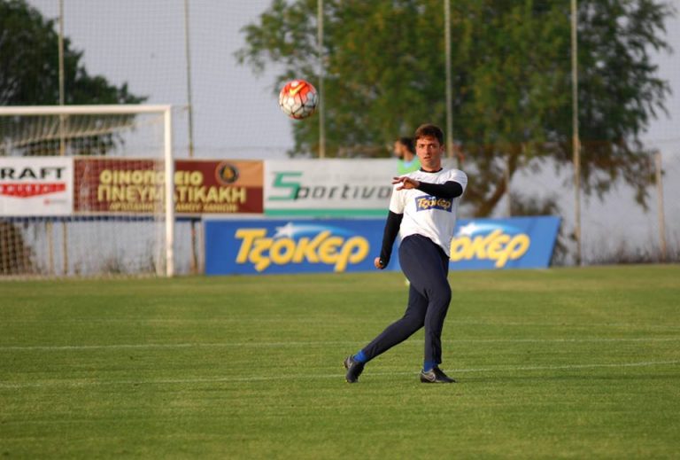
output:
[[[680,266],[451,280],[452,386],[399,274],[0,283],[0,458],[677,458]]]

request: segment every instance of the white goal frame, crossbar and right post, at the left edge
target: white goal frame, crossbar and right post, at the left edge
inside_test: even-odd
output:
[[[0,117],[31,115],[106,115],[161,113],[165,162],[166,277],[174,277],[174,155],[172,105],[8,105],[0,106]]]

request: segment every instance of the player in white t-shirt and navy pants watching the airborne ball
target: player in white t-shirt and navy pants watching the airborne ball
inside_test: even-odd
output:
[[[385,222],[383,247],[375,258],[375,268],[390,263],[392,246],[401,232],[399,262],[410,281],[406,313],[390,324],[356,355],[347,356],[344,367],[349,383],[359,380],[364,366],[376,356],[398,345],[425,327],[425,355],[422,383],[452,383],[442,363],[442,329],[451,301],[447,278],[450,247],[460,197],[468,176],[458,169],[442,168],[444,133],[435,125],[422,125],[415,131],[415,150],[421,169],[392,180],[394,190]]]

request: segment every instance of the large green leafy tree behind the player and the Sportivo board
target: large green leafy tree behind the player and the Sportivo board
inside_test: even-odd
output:
[[[243,28],[236,53],[277,83],[317,74],[316,0],[274,0]],[[324,2],[323,58],[329,156],[374,156],[422,122],[444,126],[444,14],[440,0]],[[670,91],[651,51],[670,51],[656,0],[579,2],[582,183],[605,193],[619,179],[645,204],[650,170],[639,135]],[[572,158],[569,3],[452,2],[454,135],[470,174],[466,201],[491,214],[524,165]],[[318,123],[294,124],[293,154],[313,153]]]

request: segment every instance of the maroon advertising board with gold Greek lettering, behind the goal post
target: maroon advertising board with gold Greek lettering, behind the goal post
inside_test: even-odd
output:
[[[261,161],[175,160],[177,214],[261,214]],[[153,214],[164,205],[165,172],[157,160],[75,160],[74,205],[80,214]]]

